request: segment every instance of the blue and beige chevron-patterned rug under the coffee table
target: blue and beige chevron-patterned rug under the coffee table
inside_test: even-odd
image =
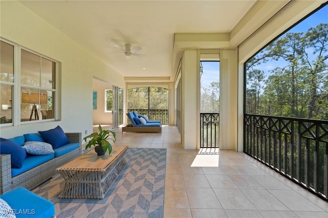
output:
[[[59,199],[60,175],[32,191],[55,205],[60,217],[163,217],[166,149],[128,148],[128,165],[104,199]]]

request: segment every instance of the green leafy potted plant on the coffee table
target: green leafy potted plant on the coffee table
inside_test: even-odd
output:
[[[86,142],[88,138],[91,138],[88,144],[86,145],[86,149],[91,148],[91,145],[93,145],[95,146],[94,150],[97,152],[98,156],[105,155],[107,150],[108,153],[111,154],[112,145],[107,140],[111,140],[113,141],[113,143],[115,143],[116,141],[115,132],[111,130],[103,130],[100,125],[98,126],[98,129],[99,129],[99,133],[92,133],[89,136],[84,137],[83,140],[85,140]]]

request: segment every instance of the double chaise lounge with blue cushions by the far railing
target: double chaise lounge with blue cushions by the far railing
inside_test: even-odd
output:
[[[135,116],[135,114],[137,116]],[[122,132],[147,132],[147,133],[162,132],[162,125],[159,120],[146,121],[144,117],[142,116],[139,117],[137,112],[134,113],[129,112],[127,113],[127,116],[130,119],[132,126],[122,127]]]

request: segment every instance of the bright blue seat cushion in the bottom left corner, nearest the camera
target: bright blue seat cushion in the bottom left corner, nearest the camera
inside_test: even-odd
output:
[[[0,196],[5,200],[16,217],[45,217],[55,215],[55,206],[39,195],[20,187]]]

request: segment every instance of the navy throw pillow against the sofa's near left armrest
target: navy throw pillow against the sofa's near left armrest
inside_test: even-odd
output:
[[[0,154],[10,155],[12,168],[22,168],[26,158],[26,152],[23,147],[16,142],[4,138],[0,138]]]

